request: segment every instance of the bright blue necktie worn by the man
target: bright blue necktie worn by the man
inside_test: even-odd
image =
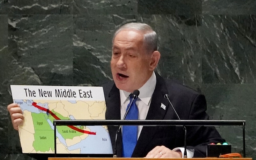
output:
[[[137,99],[137,98],[136,98]],[[132,102],[132,97],[130,97],[130,103],[127,106],[126,112],[132,102],[132,105],[126,115],[125,120],[137,120],[138,119],[138,108],[136,105],[136,99]],[[137,126],[123,126],[122,128],[122,138],[123,138],[123,156],[122,157],[131,157],[135,145],[137,143]]]

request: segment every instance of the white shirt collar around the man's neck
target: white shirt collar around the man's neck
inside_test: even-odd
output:
[[[140,98],[141,101],[143,101],[146,105],[148,105],[153,95],[153,92],[155,90],[155,87],[156,87],[156,74],[155,72],[153,72],[152,76],[147,80],[147,82],[140,89],[138,89],[140,91],[138,98]],[[131,93],[129,92],[120,90],[121,104],[125,102],[125,100],[128,98],[130,94]]]

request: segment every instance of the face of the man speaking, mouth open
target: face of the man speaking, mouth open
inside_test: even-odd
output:
[[[141,88],[151,77],[151,54],[143,47],[143,33],[122,30],[113,40],[111,71],[116,87],[127,92]]]

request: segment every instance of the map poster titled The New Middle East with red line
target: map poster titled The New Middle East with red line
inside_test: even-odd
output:
[[[104,120],[102,87],[11,85],[23,153],[54,153],[53,120]],[[106,126],[56,126],[58,154],[113,154]]]

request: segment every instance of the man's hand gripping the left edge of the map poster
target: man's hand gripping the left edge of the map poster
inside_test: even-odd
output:
[[[7,109],[12,119],[13,128],[15,130],[18,130],[18,126],[24,121],[24,116],[22,114],[20,106],[16,103],[12,103],[7,106]]]

